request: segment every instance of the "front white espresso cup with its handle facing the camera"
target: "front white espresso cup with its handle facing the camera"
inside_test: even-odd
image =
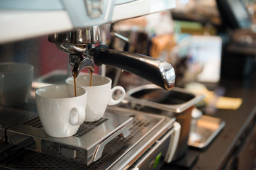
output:
[[[35,91],[38,115],[47,135],[69,137],[74,135],[86,116],[87,91],[74,86],[50,85]]]

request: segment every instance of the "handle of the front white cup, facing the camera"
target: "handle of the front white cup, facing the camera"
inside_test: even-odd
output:
[[[84,123],[85,109],[82,107],[74,107],[69,112],[69,124],[81,125]]]

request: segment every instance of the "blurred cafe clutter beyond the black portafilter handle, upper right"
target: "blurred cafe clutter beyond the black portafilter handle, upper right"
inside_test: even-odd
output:
[[[255,1],[176,3],[171,12],[116,23],[114,30],[129,38],[130,51],[171,63],[175,86],[218,83],[221,77],[246,79],[255,69]],[[123,47],[117,39],[111,45]],[[119,83],[130,89],[148,82],[123,73]]]

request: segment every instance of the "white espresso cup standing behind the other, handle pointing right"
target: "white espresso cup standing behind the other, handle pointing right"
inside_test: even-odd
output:
[[[92,75],[90,86],[91,74],[79,75],[76,78],[76,85],[88,91],[87,98],[87,117],[86,122],[96,121],[102,118],[106,107],[120,103],[126,96],[126,91],[122,86],[115,86],[111,89],[112,80],[108,77],[102,77],[97,74]],[[69,77],[66,79],[66,84],[74,86],[74,78]],[[121,91],[118,98],[113,98],[115,91]]]

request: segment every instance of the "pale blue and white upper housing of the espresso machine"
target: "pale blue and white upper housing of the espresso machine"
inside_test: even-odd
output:
[[[101,26],[174,7],[175,1],[167,0],[4,0],[0,43]]]

